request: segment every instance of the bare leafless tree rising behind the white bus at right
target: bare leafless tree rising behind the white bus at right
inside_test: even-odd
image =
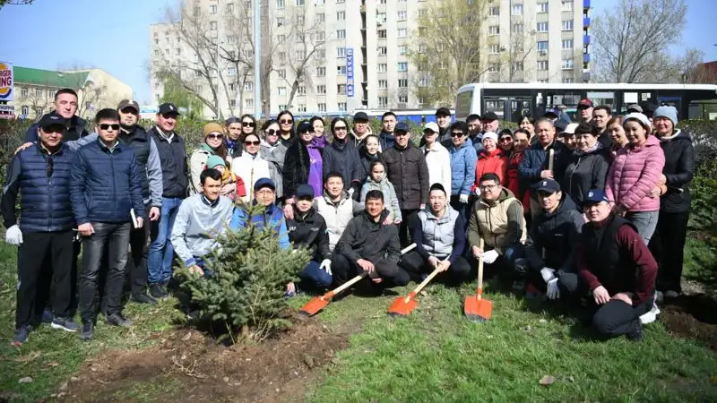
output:
[[[610,82],[661,82],[675,68],[669,47],[682,36],[684,0],[620,0],[595,20],[596,71]]]

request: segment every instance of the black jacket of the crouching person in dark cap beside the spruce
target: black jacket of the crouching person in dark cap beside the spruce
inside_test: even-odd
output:
[[[286,220],[286,228],[289,232],[289,241],[293,244],[294,249],[308,249],[315,262],[331,259],[326,221],[313,207],[304,215],[295,207],[294,219]]]

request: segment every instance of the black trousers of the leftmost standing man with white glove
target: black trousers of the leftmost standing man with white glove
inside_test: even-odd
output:
[[[48,279],[52,279],[54,296],[52,310],[56,316],[70,316],[73,300],[73,231],[25,233],[24,246],[20,248],[18,267],[20,284],[17,289],[15,326],[30,325],[37,312],[45,308],[37,306],[39,293],[47,296]],[[46,261],[48,260],[48,261]],[[46,263],[49,262],[49,263]],[[45,263],[45,264],[44,264]],[[45,270],[43,270],[45,269]]]

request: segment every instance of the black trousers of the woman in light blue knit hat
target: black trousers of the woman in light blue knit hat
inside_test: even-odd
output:
[[[689,211],[671,213],[660,211],[657,228],[650,240],[650,250],[659,264],[657,289],[681,292],[682,261],[685,258]]]

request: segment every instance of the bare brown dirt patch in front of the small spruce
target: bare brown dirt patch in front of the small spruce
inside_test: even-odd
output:
[[[158,346],[110,350],[65,385],[73,401],[303,401],[306,386],[349,335],[296,316],[291,330],[261,344],[224,347],[196,330],[176,330]],[[143,387],[142,385],[145,384]],[[168,385],[162,392],[164,385]],[[69,387],[68,387],[69,386]],[[156,395],[152,395],[152,392]]]

